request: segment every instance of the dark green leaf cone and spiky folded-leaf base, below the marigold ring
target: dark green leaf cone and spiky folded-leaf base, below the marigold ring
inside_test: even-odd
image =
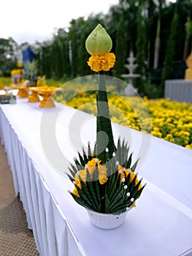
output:
[[[68,176],[76,190],[70,194],[77,203],[92,211],[121,214],[135,206],[145,185],[141,184],[142,178],[139,180],[135,173],[139,159],[132,165],[132,153],[126,141],[118,138],[115,146],[105,78],[100,73],[96,105],[96,143],[93,151],[90,143],[87,153],[82,148],[82,154],[78,152],[78,159],[75,158],[74,164],[70,165]],[[92,173],[88,167],[91,160],[95,162]],[[107,172],[104,182],[100,181],[100,166]],[[85,171],[86,177],[82,178],[81,170]]]

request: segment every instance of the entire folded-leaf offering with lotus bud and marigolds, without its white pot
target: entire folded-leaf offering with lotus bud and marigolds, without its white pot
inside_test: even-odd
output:
[[[99,24],[85,42],[91,57],[88,66],[98,72],[96,93],[96,143],[93,151],[82,148],[74,164],[69,167],[69,178],[74,184],[70,192],[81,206],[104,214],[121,214],[135,206],[145,184],[135,173],[139,159],[132,165],[128,143],[118,138],[115,146],[104,71],[115,65],[115,54],[110,53],[112,39]],[[102,72],[102,74],[101,74]]]

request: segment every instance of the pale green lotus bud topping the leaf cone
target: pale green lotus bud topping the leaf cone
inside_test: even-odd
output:
[[[98,24],[85,42],[85,48],[91,55],[104,55],[112,49],[112,39],[107,31]]]

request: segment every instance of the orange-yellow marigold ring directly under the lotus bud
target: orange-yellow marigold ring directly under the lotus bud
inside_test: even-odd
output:
[[[115,65],[115,54],[106,53],[104,55],[92,55],[88,59],[88,65],[95,72],[101,70],[109,71]]]

